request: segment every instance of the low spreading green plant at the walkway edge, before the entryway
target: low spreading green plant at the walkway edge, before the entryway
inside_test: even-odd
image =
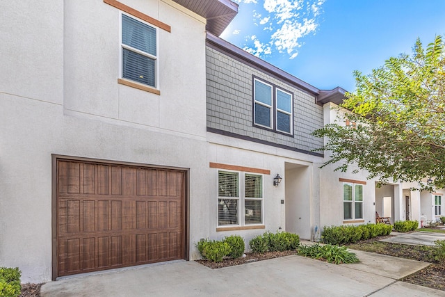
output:
[[[298,248],[298,255],[311,257],[313,259],[324,259],[326,262],[334,264],[359,262],[357,255],[349,252],[346,247],[332,246],[330,244],[321,246],[316,243],[312,246],[300,246]]]

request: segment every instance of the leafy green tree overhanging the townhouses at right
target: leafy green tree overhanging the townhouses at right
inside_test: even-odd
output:
[[[344,118],[314,131],[315,136],[327,137],[320,150],[329,151],[330,159],[323,166],[335,163],[336,170],[344,172],[354,163],[381,182],[394,179],[419,182],[421,188],[444,187],[442,37],[436,36],[426,49],[417,39],[411,55],[389,58],[369,75],[358,71],[354,75],[356,90],[346,93],[337,109]]]

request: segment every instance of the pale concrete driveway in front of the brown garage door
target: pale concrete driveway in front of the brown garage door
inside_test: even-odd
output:
[[[353,252],[361,263],[292,255],[213,270],[185,261],[145,266],[48,282],[41,296],[445,296],[397,281],[427,263]]]

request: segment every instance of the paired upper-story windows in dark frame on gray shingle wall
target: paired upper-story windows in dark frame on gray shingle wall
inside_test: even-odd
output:
[[[254,125],[293,134],[292,94],[254,78]]]

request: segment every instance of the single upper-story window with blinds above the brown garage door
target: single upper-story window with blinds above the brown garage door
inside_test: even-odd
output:
[[[157,30],[122,13],[122,79],[156,88]]]

